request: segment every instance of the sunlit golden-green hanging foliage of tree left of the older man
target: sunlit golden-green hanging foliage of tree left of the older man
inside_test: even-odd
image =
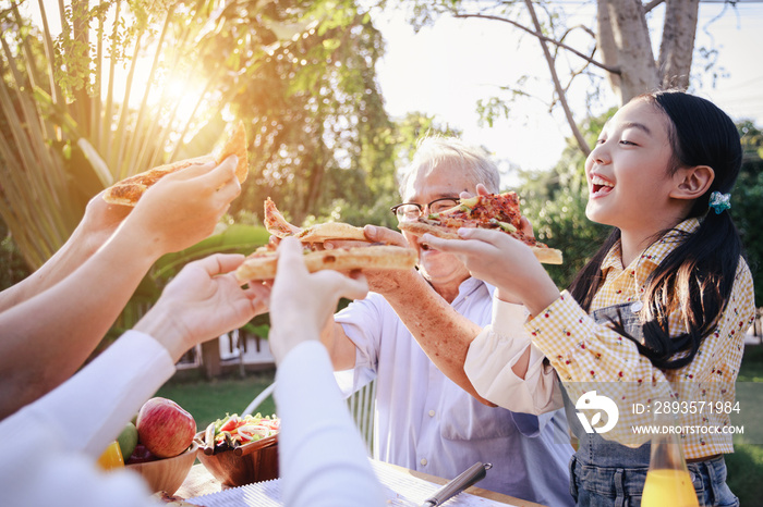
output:
[[[375,74],[380,34],[354,2],[269,9],[307,28],[271,45],[235,84],[230,107],[251,118],[253,150],[233,214],[261,217],[266,197],[295,223],[346,203],[373,206],[395,191],[393,125]]]

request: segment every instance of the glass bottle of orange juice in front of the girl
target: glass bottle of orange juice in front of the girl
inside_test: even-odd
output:
[[[669,410],[664,410],[664,404],[652,406],[659,410],[654,418],[657,433],[652,437],[650,465],[641,506],[699,507],[678,433],[669,431],[670,426],[674,429],[677,426],[678,419]]]

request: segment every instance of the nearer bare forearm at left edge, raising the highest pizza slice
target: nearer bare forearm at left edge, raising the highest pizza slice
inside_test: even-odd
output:
[[[156,258],[149,247],[114,236],[70,276],[0,314],[0,371],[7,389],[0,418],[83,364]]]

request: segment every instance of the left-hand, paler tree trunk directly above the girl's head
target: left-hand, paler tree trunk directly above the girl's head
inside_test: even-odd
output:
[[[604,15],[602,12],[606,11]],[[600,30],[596,34],[606,65],[620,69],[619,86],[610,79],[620,106],[659,86],[652,53],[644,7],[640,0],[598,0]],[[609,28],[604,28],[608,14]],[[616,61],[607,61],[616,54]]]

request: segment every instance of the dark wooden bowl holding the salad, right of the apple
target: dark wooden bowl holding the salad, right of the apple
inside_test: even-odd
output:
[[[196,434],[198,442],[203,442],[203,432]],[[211,453],[211,449],[203,447],[197,455],[198,460],[226,486],[243,486],[278,478],[278,434],[235,449],[207,453]]]

